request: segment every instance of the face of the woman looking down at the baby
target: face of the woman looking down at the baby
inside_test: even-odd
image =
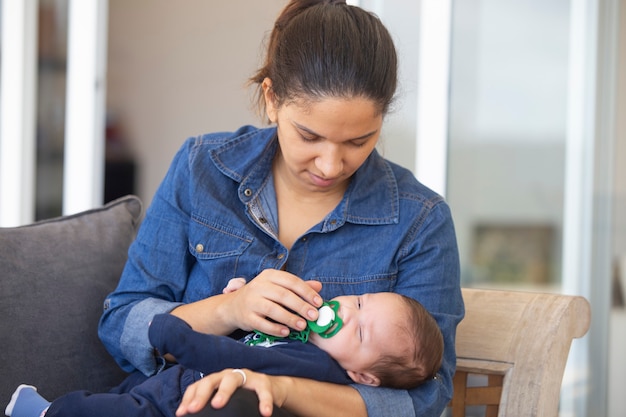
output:
[[[280,144],[278,174],[304,193],[343,193],[378,142],[383,117],[374,102],[326,98],[276,107],[266,81],[267,114]]]

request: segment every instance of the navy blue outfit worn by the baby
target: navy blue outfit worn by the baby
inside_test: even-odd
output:
[[[228,336],[196,332],[170,314],[154,317],[149,336],[155,349],[173,355],[178,364],[152,377],[131,374],[108,393],[66,394],[52,402],[46,417],[174,417],[189,385],[225,368],[337,384],[353,382],[330,355],[311,343],[284,339],[269,347],[248,346]]]

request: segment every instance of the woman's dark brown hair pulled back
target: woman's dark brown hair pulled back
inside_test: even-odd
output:
[[[345,1],[292,0],[276,20],[263,67],[250,79],[262,110],[265,78],[278,106],[363,97],[385,114],[396,91],[396,50],[372,13]]]

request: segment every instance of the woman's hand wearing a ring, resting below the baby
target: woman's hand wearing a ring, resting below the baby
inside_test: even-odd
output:
[[[241,387],[256,392],[259,398],[259,412],[262,416],[271,416],[274,404],[280,406],[285,401],[284,398],[277,398],[275,395],[275,391],[282,392],[282,397],[285,397],[286,390],[278,383],[279,378],[248,369],[225,369],[207,375],[187,388],[176,415],[197,413],[206,407],[209,400],[213,408],[222,408]]]

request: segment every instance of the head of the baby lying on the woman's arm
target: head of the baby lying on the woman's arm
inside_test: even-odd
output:
[[[310,341],[357,383],[410,389],[435,376],[443,357],[439,326],[417,301],[395,293],[336,297],[343,327]]]

